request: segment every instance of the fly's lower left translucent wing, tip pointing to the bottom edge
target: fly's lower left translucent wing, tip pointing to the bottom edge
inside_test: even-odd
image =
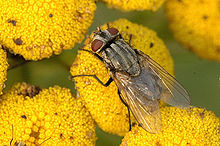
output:
[[[144,72],[140,75],[144,76]],[[158,133],[162,128],[158,100],[151,100],[138,90],[139,83],[127,74],[116,72],[112,75],[123,100],[129,106],[138,123],[150,133]]]

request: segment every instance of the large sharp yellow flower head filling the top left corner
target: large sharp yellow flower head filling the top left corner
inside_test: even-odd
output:
[[[96,10],[93,0],[4,0],[0,6],[0,41],[27,60],[80,43]]]

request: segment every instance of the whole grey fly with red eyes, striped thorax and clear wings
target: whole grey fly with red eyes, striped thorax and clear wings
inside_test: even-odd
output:
[[[130,111],[146,131],[158,133],[162,128],[159,100],[180,108],[190,106],[189,94],[183,86],[148,55],[133,49],[130,41],[126,43],[118,29],[99,28],[91,48],[92,51],[80,50],[90,52],[104,62],[110,71],[110,79],[103,83],[96,75],[73,77],[91,76],[106,87],[114,81],[120,99],[128,108],[130,130]]]

